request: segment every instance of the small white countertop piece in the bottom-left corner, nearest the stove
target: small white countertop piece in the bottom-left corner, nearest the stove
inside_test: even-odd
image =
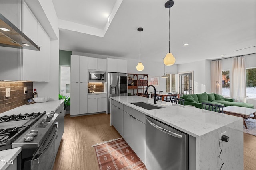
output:
[[[5,170],[11,165],[20,152],[21,147],[0,151],[0,170]]]

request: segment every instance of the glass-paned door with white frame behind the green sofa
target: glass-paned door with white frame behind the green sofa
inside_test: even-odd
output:
[[[191,72],[179,74],[179,89],[180,96],[193,94]]]

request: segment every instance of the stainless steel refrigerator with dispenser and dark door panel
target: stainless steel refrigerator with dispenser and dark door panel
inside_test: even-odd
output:
[[[127,74],[108,72],[108,113],[110,113],[110,98],[127,96]]]

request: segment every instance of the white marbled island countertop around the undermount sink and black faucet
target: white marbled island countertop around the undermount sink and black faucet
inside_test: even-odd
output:
[[[154,104],[154,99],[141,96],[119,96],[112,97],[112,99],[158,119],[180,131],[188,133],[193,137],[200,137],[242,119],[241,117],[198,109],[196,107],[172,104],[165,101],[157,101],[157,104]],[[148,102],[166,108],[147,110],[131,104],[132,102]]]

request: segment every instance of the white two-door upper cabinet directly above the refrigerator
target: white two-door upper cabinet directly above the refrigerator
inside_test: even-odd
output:
[[[107,58],[107,72],[127,73],[127,61],[122,59]]]

